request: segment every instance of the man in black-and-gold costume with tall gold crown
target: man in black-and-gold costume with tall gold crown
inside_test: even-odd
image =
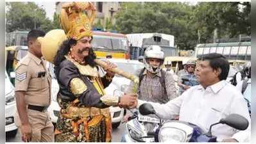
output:
[[[108,69],[115,65],[108,62],[107,74],[99,76],[101,67],[94,62],[96,56],[91,49],[95,14],[92,3],[73,2],[62,6],[60,20],[67,40],[60,45],[53,61],[61,108],[55,141],[109,142],[112,122],[108,107],[134,108],[137,100],[135,94],[112,97],[104,92],[114,77]]]

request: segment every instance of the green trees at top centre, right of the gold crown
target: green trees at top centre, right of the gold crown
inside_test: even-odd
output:
[[[123,3],[116,26],[122,33],[174,35],[180,49],[192,49],[197,36],[191,17],[192,7],[184,3]]]

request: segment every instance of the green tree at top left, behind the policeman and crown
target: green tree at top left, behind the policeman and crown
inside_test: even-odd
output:
[[[33,2],[11,2],[6,3],[6,7],[6,32],[31,29],[47,32],[54,28],[51,20],[46,17],[45,10]]]

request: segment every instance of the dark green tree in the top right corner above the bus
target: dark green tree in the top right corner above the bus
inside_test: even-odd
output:
[[[240,4],[245,5],[242,10]],[[218,31],[218,38],[250,35],[250,3],[199,3],[194,22],[202,35],[201,42],[212,42],[214,30]]]

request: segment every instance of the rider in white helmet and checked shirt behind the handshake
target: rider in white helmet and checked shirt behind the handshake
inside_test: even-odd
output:
[[[139,70],[138,99],[164,104],[176,97],[175,81],[171,73],[162,70],[164,52],[158,45],[149,46],[144,52],[144,68]],[[128,92],[132,92],[133,84],[130,83]],[[124,122],[132,116],[126,114]],[[152,130],[155,125],[144,123],[146,129]]]

